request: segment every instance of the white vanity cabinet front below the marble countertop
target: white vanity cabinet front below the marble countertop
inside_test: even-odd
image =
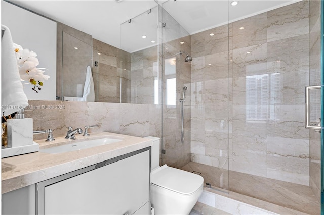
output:
[[[150,151],[142,149],[37,184],[38,214],[150,214]]]

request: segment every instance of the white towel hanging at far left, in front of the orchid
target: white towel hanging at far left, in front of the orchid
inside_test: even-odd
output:
[[[1,41],[1,111],[8,116],[28,106],[28,99],[20,81],[10,30],[5,25],[1,29],[5,30]]]

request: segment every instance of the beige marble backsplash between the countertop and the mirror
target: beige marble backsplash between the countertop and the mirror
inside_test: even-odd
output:
[[[138,137],[161,137],[161,105],[102,103],[81,101],[29,100],[26,118],[33,118],[33,130],[53,130],[55,137],[65,136],[67,128],[98,124],[91,132],[108,131]],[[26,109],[27,110],[27,109]],[[136,113],[136,114],[134,114]],[[77,136],[76,136],[77,137]],[[47,134],[34,135],[34,140]]]

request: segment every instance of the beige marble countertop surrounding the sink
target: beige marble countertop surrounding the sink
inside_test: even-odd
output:
[[[39,148],[42,149],[66,143],[105,138],[108,135],[119,136],[123,140],[107,145],[58,154],[34,152],[2,158],[2,193],[54,178],[152,145],[152,141],[149,139],[109,132],[91,133],[89,137],[76,135],[76,140],[67,140],[64,137],[59,137],[55,138],[53,142],[46,142],[45,140],[36,140],[34,142],[37,142]]]

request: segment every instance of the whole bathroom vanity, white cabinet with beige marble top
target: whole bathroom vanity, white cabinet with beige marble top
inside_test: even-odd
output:
[[[42,152],[110,137],[120,140]],[[3,214],[150,214],[152,141],[108,132],[78,138],[37,141],[40,152],[2,159]]]

